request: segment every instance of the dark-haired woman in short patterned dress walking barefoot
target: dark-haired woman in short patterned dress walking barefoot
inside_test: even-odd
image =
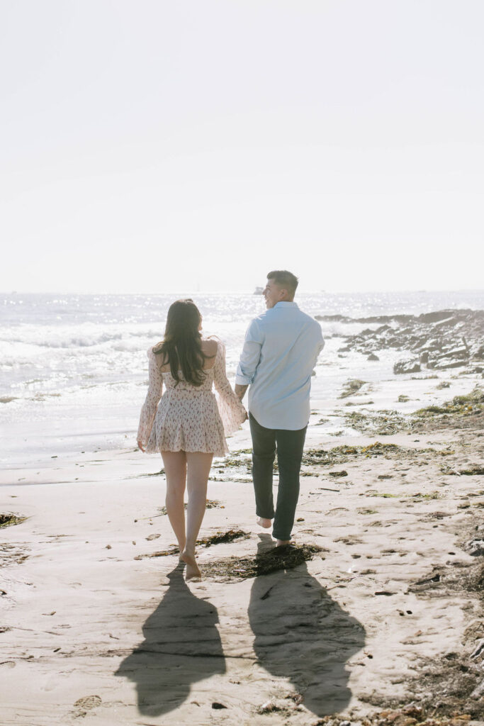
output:
[[[195,542],[205,514],[213,456],[229,451],[225,434],[236,431],[247,418],[227,380],[223,344],[202,338],[200,330],[202,316],[192,300],[177,300],[170,306],[165,338],[148,350],[149,388],[138,429],[141,451],[161,452],[163,457],[166,511],[180,559],[186,563],[186,579],[201,577]]]

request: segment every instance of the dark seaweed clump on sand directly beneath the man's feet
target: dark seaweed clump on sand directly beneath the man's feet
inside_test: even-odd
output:
[[[273,547],[265,552],[257,552],[252,557],[230,557],[203,564],[203,575],[221,582],[244,580],[250,577],[268,575],[279,570],[292,570],[307,560],[312,560],[318,552],[323,552],[316,544],[291,544],[287,547]]]

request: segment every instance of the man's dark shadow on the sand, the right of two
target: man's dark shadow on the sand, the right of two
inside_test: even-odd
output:
[[[267,556],[271,537],[259,537],[258,552]],[[255,579],[249,621],[258,663],[290,680],[307,709],[325,716],[348,706],[345,663],[364,647],[365,630],[332,600],[305,563]]]

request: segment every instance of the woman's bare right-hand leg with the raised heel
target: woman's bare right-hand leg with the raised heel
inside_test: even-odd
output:
[[[207,482],[212,465],[213,454],[186,452],[188,473],[188,506],[186,507],[186,544],[181,559],[186,562],[186,579],[200,577],[200,569],[195,560],[195,542],[202,525],[207,505]]]

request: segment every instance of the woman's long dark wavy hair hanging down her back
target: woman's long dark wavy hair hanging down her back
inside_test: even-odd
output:
[[[205,380],[203,366],[209,356],[202,351],[200,319],[200,312],[190,298],[172,303],[166,317],[165,338],[153,348],[153,353],[163,355],[162,365],[169,362],[176,383],[180,381],[180,370],[192,386],[201,386]]]

